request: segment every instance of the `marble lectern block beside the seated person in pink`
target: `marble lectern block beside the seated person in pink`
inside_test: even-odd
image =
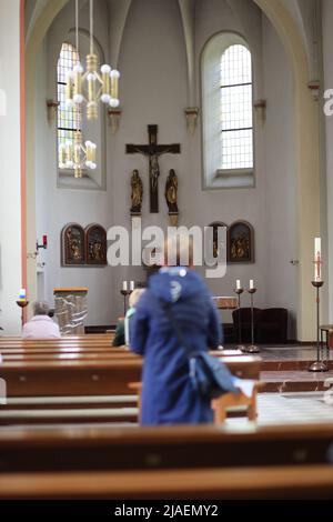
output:
[[[88,317],[88,288],[54,288],[54,315],[61,335],[84,333],[84,321]]]

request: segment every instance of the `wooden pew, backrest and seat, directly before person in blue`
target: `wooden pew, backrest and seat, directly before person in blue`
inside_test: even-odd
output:
[[[89,360],[75,354],[74,361],[64,361],[62,355],[51,361],[36,361],[33,357],[27,361],[4,361],[0,367],[8,395],[7,404],[0,405],[0,425],[138,422],[137,399],[128,389],[129,382],[141,378],[142,360],[138,355],[94,354]],[[223,361],[239,377],[259,378],[260,358],[243,355]]]

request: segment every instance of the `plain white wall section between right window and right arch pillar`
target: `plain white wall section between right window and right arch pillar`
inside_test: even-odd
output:
[[[291,335],[295,339],[297,309],[295,130],[293,124],[293,78],[278,34],[263,19],[264,91],[268,102],[264,124],[264,199],[260,202],[265,221],[263,244],[266,305],[293,312]]]

